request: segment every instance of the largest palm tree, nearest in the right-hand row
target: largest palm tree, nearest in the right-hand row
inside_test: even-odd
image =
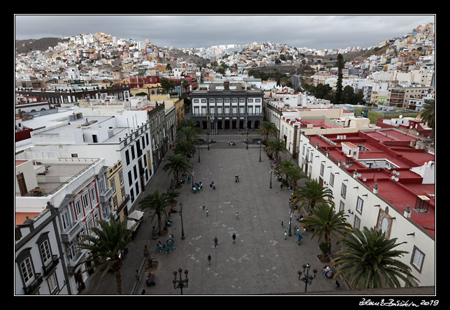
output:
[[[395,250],[400,244],[397,238],[387,239],[384,232],[374,228],[355,229],[347,238],[340,241],[344,246],[337,251],[337,258],[331,263],[338,267],[337,274],[344,274],[344,280],[354,288],[400,287],[400,281],[412,286],[409,279],[417,280],[411,268],[396,258],[407,251]]]

